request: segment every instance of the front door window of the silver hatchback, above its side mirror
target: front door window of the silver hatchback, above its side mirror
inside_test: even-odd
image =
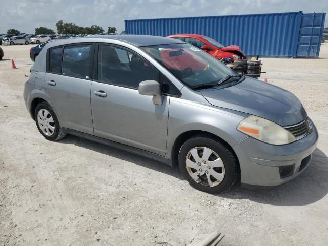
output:
[[[135,53],[122,48],[99,45],[98,80],[136,89],[141,81],[159,81],[159,73]]]

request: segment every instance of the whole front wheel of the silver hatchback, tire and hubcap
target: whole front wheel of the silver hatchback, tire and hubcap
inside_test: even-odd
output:
[[[234,154],[220,141],[208,136],[189,138],[182,145],[179,166],[192,187],[208,193],[231,188],[239,176]]]

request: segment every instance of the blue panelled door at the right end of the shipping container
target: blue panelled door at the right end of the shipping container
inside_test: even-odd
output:
[[[303,14],[296,57],[318,57],[325,13]]]

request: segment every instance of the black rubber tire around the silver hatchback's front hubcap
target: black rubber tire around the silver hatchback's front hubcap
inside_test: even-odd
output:
[[[223,161],[225,174],[223,180],[218,185],[210,187],[206,185],[206,182],[205,184],[201,182],[197,182],[188,173],[186,167],[186,158],[189,151],[191,151],[195,147],[209,148],[213,150],[215,153],[217,153],[220,159]],[[182,175],[187,179],[187,181],[192,187],[194,187],[197,190],[207,193],[212,193],[212,194],[221,193],[231,188],[239,177],[239,166],[238,166],[237,158],[220,141],[209,136],[203,136],[203,135],[194,136],[192,138],[189,138],[183,143],[179,151],[179,167]]]

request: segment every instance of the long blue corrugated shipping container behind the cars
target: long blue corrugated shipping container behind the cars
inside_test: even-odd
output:
[[[239,45],[248,56],[297,57],[301,52],[299,56],[302,57],[317,57],[320,42],[316,40],[321,40],[325,13],[317,15],[313,17],[311,28],[321,31],[311,29],[308,35],[311,42],[307,44],[300,40],[304,37],[300,33],[302,25],[306,23],[306,28],[309,28],[311,20],[306,20],[309,16],[302,12],[125,20],[125,31],[126,34],[156,36],[201,34],[224,45]],[[316,37],[312,38],[312,34]]]

